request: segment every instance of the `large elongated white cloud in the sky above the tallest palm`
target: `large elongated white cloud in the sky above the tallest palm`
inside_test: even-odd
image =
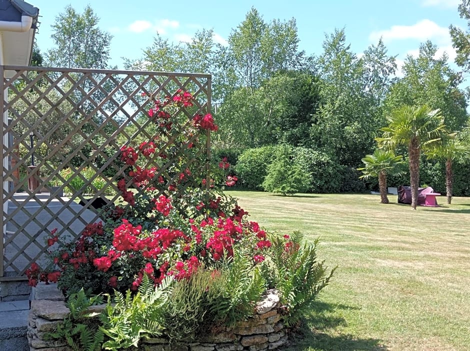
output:
[[[374,31],[370,33],[369,39],[377,41],[380,37],[383,41],[418,39],[425,41],[427,39],[445,39],[449,36],[448,28],[441,27],[429,19],[422,19],[413,25],[392,25],[390,29]]]

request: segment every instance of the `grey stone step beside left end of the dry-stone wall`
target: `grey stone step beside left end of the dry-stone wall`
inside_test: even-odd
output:
[[[0,302],[0,350],[29,351],[26,338],[29,300]]]

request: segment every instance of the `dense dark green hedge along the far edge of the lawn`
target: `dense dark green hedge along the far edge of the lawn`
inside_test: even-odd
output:
[[[272,162],[279,146],[263,146],[243,151],[237,160],[234,171],[242,187],[262,190],[261,183],[267,173],[267,166]],[[305,173],[311,174],[310,193],[339,193],[378,191],[377,179],[362,181],[360,172],[355,168],[340,165],[331,156],[305,147],[293,147],[294,161]],[[225,152],[227,153],[227,152]],[[228,154],[228,153],[227,153]],[[231,156],[232,160],[234,155]],[[422,158],[419,172],[419,184],[430,186],[436,192],[445,194],[445,162]],[[455,163],[453,170],[453,196],[470,196],[470,165]],[[398,187],[409,185],[408,166],[403,165],[403,173],[387,175],[387,185]]]

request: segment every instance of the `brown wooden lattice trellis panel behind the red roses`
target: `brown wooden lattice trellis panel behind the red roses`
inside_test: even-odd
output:
[[[119,157],[122,145],[159,133],[161,149],[142,165],[158,162],[155,178],[171,184],[186,168],[207,177],[209,132],[203,131],[202,145],[188,146],[199,137],[191,129],[192,116],[210,112],[210,75],[0,66],[0,81],[0,280],[24,279],[30,264],[41,262],[52,229],[60,240],[70,240],[99,220],[91,207],[94,199],[118,199],[116,183],[126,168]],[[151,100],[177,89],[191,92],[194,106],[174,111],[177,122],[170,130],[155,129],[146,115]],[[58,189],[51,188],[54,182]]]

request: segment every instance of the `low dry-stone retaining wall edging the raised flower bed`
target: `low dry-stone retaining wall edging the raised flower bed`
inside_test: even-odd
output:
[[[68,316],[62,294],[53,285],[40,285],[31,293],[27,338],[30,351],[71,351],[66,342],[45,340],[48,332]],[[93,306],[94,312],[105,305]],[[169,345],[160,338],[144,339],[138,349],[142,351],[258,351],[275,350],[287,342],[286,330],[277,312],[279,298],[268,291],[257,304],[256,316],[237,323],[233,328],[218,328],[190,345]]]

